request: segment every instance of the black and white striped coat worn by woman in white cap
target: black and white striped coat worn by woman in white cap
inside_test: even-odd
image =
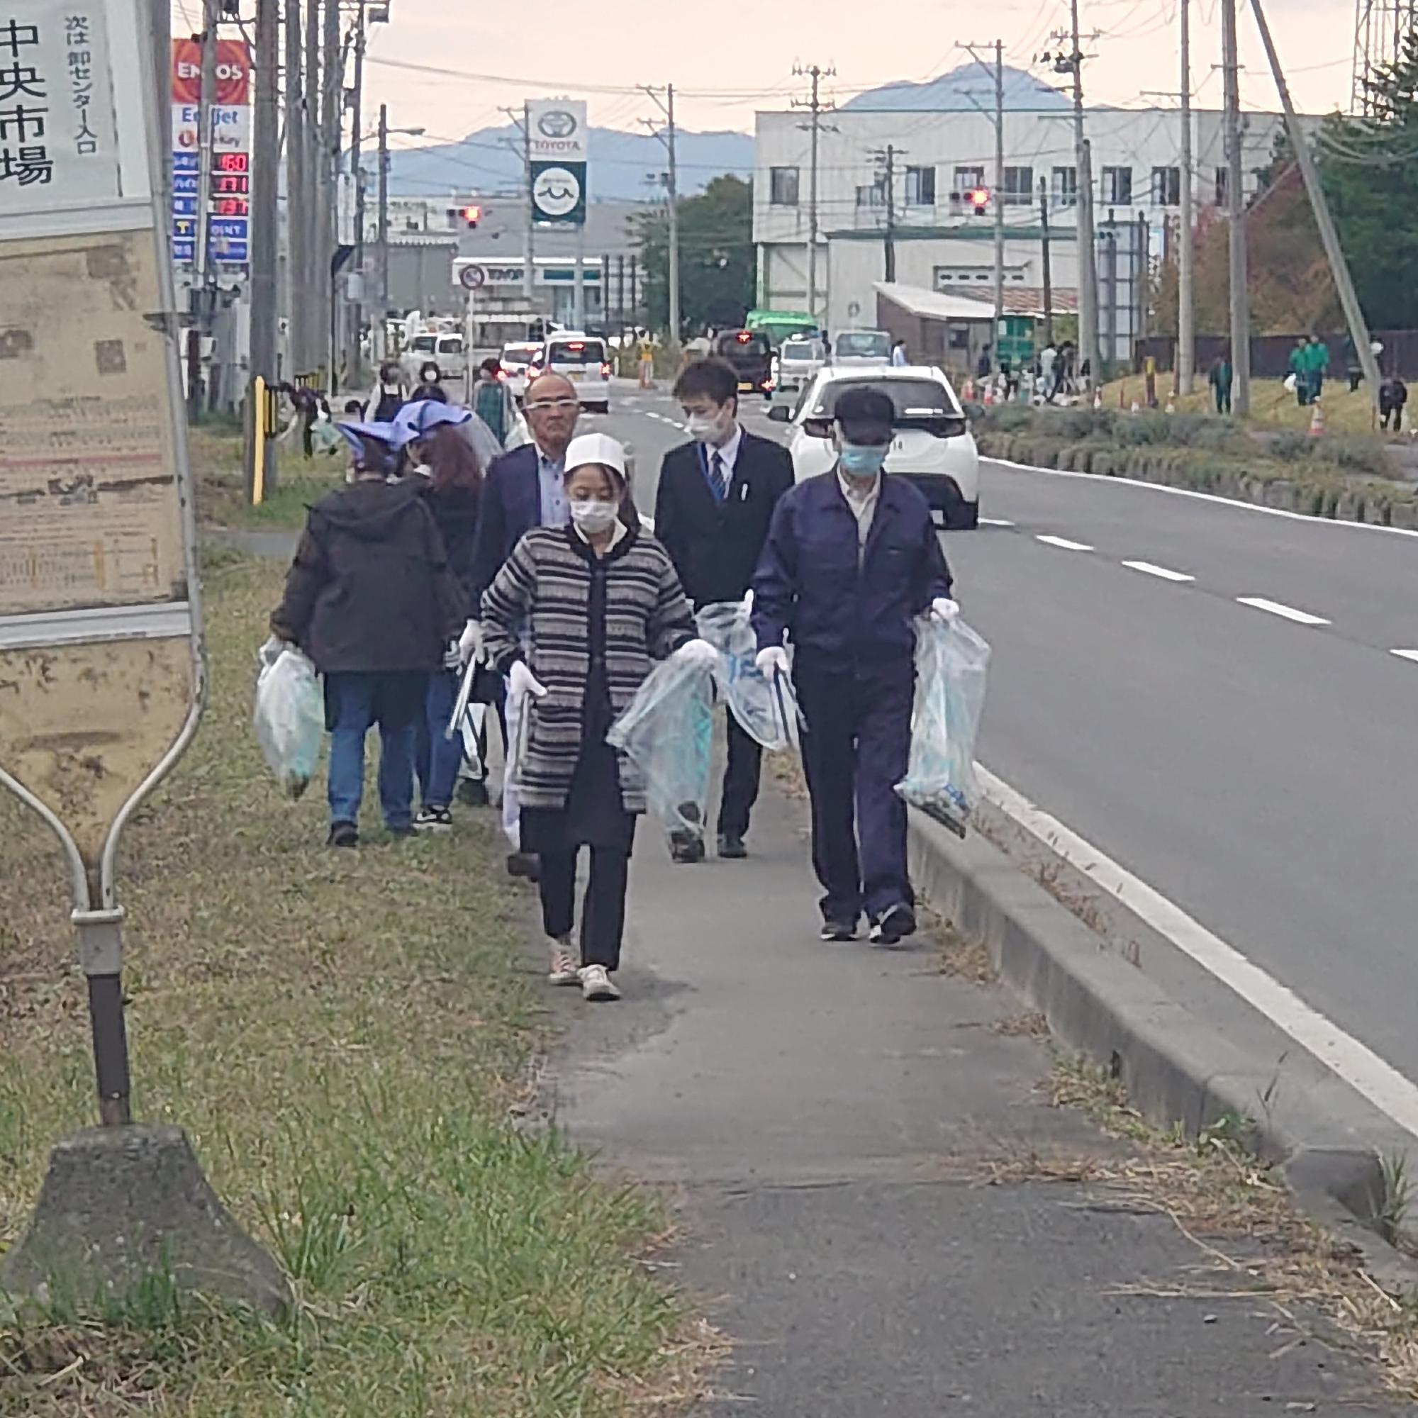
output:
[[[693,640],[695,618],[669,553],[644,529],[597,557],[571,527],[535,527],[482,597],[484,649],[503,674],[525,658],[546,686],[529,700],[518,797],[560,808],[581,752],[593,651],[605,657],[613,715],[635,698],[657,659]],[[621,805],[645,811],[645,781],[620,754]]]

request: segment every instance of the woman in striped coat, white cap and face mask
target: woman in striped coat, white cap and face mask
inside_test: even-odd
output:
[[[545,391],[543,391],[545,397]],[[584,434],[563,452],[569,522],[527,532],[482,597],[484,647],[526,725],[516,766],[522,849],[536,855],[552,984],[617,1000],[625,891],[645,786],[605,742],[655,661],[718,659],[665,549],[627,526],[625,450]],[[590,849],[580,951],[576,868]]]

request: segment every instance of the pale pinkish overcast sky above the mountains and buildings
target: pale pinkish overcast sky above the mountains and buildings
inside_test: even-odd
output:
[[[200,10],[199,0],[174,0]],[[1120,105],[1164,102],[1146,89],[1176,92],[1180,0],[1081,0],[1089,101]],[[1248,0],[1241,3],[1242,101],[1273,108],[1275,88]],[[1193,94],[1221,105],[1219,0],[1191,0]],[[1292,92],[1302,109],[1347,105],[1353,51],[1353,0],[1268,0]],[[835,64],[839,99],[892,79],[923,79],[956,67],[957,40],[1003,38],[1007,62],[1029,68],[1068,23],[1068,0],[764,0],[705,4],[695,0],[563,0],[562,4],[451,4],[391,0],[393,23],[372,27],[370,55],[512,82],[438,77],[372,62],[366,113],[384,101],[393,126],[423,126],[430,138],[461,138],[502,122],[499,105],[559,94],[586,96],[593,123],[635,128],[652,116],[638,84],[672,81],[678,118],[695,129],[753,129],[760,108],[783,108],[803,91],[794,62]],[[186,21],[174,16],[176,33]],[[968,30],[960,24],[968,21]],[[1048,71],[1039,67],[1041,74]],[[1058,79],[1056,82],[1062,82]],[[613,92],[596,92],[597,88]],[[621,89],[621,92],[614,92]],[[366,126],[373,126],[370,122]],[[425,139],[428,140],[428,139]],[[407,140],[400,143],[404,146]]]

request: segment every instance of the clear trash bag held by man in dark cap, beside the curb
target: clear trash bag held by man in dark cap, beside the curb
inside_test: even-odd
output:
[[[980,801],[974,747],[990,645],[959,617],[916,623],[910,764],[896,791],[964,837]]]

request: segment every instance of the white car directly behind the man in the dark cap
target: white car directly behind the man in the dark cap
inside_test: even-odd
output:
[[[777,404],[774,423],[791,424],[788,452],[798,482],[837,462],[832,414],[845,389],[875,389],[896,410],[886,471],[913,482],[943,525],[968,529],[980,522],[980,454],[950,380],[930,366],[898,369],[824,369],[804,390],[797,408]]]

